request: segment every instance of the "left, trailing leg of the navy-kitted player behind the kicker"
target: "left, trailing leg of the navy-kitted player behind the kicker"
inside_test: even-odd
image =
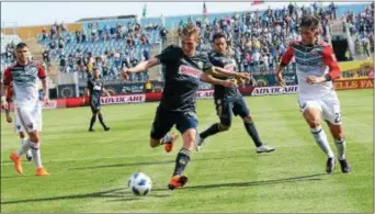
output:
[[[201,147],[204,144],[204,140],[212,136],[215,135],[219,132],[225,132],[230,128],[231,125],[231,119],[232,119],[232,113],[231,113],[231,108],[232,108],[232,102],[230,101],[223,101],[216,100],[216,113],[220,119],[219,123],[214,123],[212,126],[209,126],[207,129],[198,134],[196,144],[195,144],[195,150],[201,150]]]

